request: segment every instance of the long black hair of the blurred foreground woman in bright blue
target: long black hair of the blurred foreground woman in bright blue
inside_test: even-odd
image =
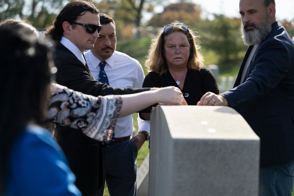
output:
[[[0,195],[13,142],[26,125],[41,123],[51,80],[52,53],[41,40],[22,33],[26,28],[0,25]]]

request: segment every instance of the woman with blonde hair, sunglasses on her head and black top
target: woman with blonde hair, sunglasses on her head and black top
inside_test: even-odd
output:
[[[203,66],[195,33],[179,21],[161,28],[153,38],[145,66],[149,73],[143,87],[176,86],[188,105],[196,105],[206,92],[219,93],[216,78]],[[149,120],[150,114],[140,117]]]

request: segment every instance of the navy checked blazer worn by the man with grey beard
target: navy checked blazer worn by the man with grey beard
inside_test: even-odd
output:
[[[240,85],[251,49],[234,88],[222,95],[260,137],[260,167],[270,167],[294,160],[294,43],[284,27],[273,23]]]

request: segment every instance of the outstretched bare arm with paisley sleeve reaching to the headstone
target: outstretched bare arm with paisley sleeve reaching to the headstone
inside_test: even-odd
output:
[[[156,88],[123,96],[94,97],[52,84],[51,92],[52,97],[47,101],[46,127],[54,127],[51,123],[69,126],[99,141],[111,139],[118,117],[154,103],[179,105],[184,100],[176,87]]]

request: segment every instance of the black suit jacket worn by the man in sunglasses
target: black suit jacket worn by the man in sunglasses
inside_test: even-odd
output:
[[[54,51],[54,63],[58,71],[56,82],[93,96],[123,95],[142,91],[150,88],[113,88],[104,83],[97,82],[86,66],[61,43]],[[150,112],[151,107],[145,110]],[[88,138],[80,130],[60,127],[56,138],[64,150],[71,170],[76,175],[76,186],[83,195],[93,195],[102,185],[102,163],[99,143]],[[100,184],[99,184],[100,182]]]

